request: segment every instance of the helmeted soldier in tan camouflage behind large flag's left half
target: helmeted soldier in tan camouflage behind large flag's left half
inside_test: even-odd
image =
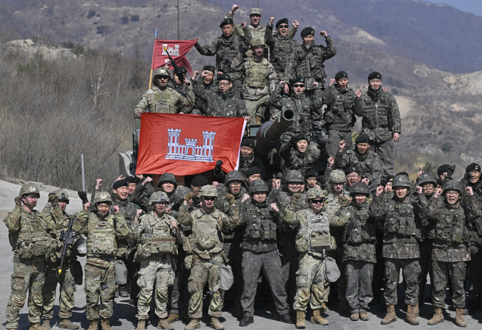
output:
[[[143,112],[182,113],[184,107],[192,107],[194,93],[189,80],[185,81],[186,96],[168,86],[171,76],[166,68],[157,68],[152,75],[151,89],[146,91],[134,109],[134,116],[141,118]]]

